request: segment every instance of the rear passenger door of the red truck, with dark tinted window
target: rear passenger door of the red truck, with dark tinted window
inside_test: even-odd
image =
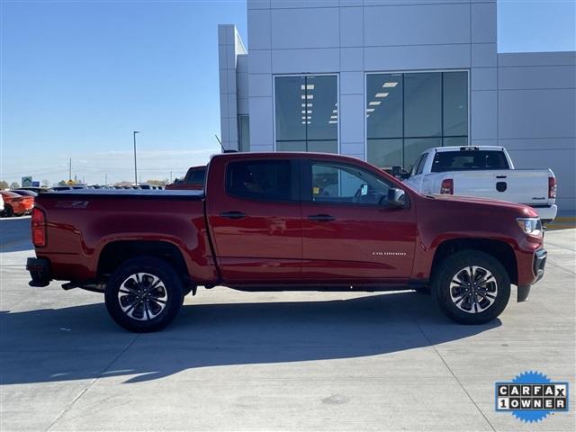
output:
[[[207,215],[220,275],[229,284],[301,276],[298,161],[215,157],[207,177]]]

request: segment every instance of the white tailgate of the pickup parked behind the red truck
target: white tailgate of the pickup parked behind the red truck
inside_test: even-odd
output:
[[[548,176],[546,169],[506,169],[453,173],[454,194],[478,196],[520,204],[547,204]]]

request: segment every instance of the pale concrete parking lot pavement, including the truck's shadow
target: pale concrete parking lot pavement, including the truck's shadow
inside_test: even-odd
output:
[[[100,294],[28,286],[30,219],[0,220],[0,429],[574,430],[494,411],[494,383],[575,385],[576,229],[546,234],[545,280],[489,325],[418,293],[186,299],[160,333],[116,327]],[[513,295],[515,295],[515,291]]]

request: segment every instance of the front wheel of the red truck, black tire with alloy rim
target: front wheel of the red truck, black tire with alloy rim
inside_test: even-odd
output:
[[[486,271],[492,277],[486,277]],[[474,277],[470,278],[470,274]],[[462,284],[466,275],[470,283]],[[476,284],[482,279],[490,282]],[[434,275],[432,292],[440,309],[452,320],[461,324],[483,324],[496,319],[506,308],[510,298],[510,280],[506,269],[495,257],[479,250],[461,250],[440,264]]]

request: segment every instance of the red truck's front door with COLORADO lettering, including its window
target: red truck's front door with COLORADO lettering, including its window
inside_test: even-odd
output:
[[[393,186],[374,170],[311,161],[302,166],[302,275],[343,284],[410,278],[415,211],[386,204]]]

